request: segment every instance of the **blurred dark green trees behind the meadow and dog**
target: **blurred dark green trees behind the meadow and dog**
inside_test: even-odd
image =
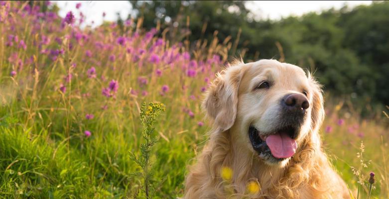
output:
[[[314,71],[332,96],[359,107],[389,104],[389,1],[276,21],[256,19],[246,1],[130,2],[129,17],[141,17],[146,28],[175,30],[170,39],[232,38],[232,57],[284,59]]]

